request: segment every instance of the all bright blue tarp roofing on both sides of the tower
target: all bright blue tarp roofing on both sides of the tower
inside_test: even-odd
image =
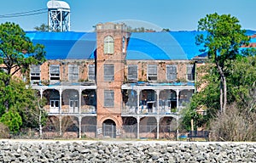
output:
[[[247,31],[252,36],[255,31]],[[206,57],[202,45],[195,44],[195,36],[202,31],[136,32],[131,33],[127,60],[132,59],[193,59]],[[96,32],[42,32],[27,31],[33,43],[44,44],[46,59],[95,59]],[[256,42],[252,38],[251,42]]]

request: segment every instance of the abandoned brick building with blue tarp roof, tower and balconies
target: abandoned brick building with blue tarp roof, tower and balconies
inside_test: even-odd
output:
[[[73,117],[79,138],[173,136],[196,90],[195,67],[207,57],[195,45],[199,33],[130,33],[113,23],[95,32],[27,32],[47,59],[31,66],[30,83],[60,128]]]

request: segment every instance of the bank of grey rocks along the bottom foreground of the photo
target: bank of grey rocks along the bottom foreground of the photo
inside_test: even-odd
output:
[[[0,141],[0,162],[256,162],[256,143]]]

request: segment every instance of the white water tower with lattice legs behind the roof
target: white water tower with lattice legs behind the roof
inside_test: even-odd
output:
[[[70,31],[70,7],[66,2],[47,3],[49,31]]]

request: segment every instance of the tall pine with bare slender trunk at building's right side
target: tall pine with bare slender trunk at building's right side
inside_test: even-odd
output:
[[[225,111],[227,105],[227,69],[230,61],[241,53],[241,46],[247,45],[249,37],[236,17],[230,14],[207,14],[198,22],[199,31],[207,31],[207,37],[199,35],[197,43],[203,44],[209,59],[216,65],[220,82],[220,110]]]

